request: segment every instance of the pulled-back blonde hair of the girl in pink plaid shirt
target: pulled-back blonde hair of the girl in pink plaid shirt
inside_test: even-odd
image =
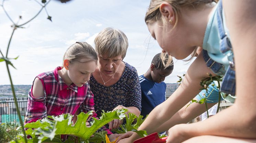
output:
[[[86,42],[76,42],[67,49],[63,56],[63,61],[68,59],[70,63],[73,63],[80,62],[80,60],[84,58],[88,59],[86,62],[98,60],[97,53],[90,44]]]

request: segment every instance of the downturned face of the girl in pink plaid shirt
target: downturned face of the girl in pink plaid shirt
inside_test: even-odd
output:
[[[80,62],[73,62],[69,64],[68,76],[70,80],[82,87],[86,84],[97,67],[97,61],[86,62],[88,59],[81,59]]]

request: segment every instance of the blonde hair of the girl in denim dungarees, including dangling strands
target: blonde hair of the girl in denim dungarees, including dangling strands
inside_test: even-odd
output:
[[[146,16],[145,16],[145,23],[148,25],[149,23],[157,22],[161,19],[161,22],[164,22],[162,20],[162,14],[160,12],[160,5],[163,2],[168,2],[172,5],[173,11],[175,13],[175,24],[174,27],[176,27],[178,23],[178,15],[181,12],[181,8],[196,8],[202,4],[208,4],[211,2],[218,2],[218,0],[151,0],[149,4],[149,8],[147,10]],[[196,54],[196,49],[193,52],[193,56]],[[161,54],[162,61],[166,61],[165,67],[168,67],[172,64],[172,57],[169,56],[168,59],[165,57],[166,53]],[[191,58],[192,59],[192,58]],[[164,62],[163,62],[164,63]]]

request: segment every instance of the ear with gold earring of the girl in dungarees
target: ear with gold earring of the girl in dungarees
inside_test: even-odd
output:
[[[168,23],[175,24],[175,12],[170,3],[163,2],[160,5],[159,10],[163,15],[164,19],[167,20]]]

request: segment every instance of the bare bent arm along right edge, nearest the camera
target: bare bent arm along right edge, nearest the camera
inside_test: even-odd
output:
[[[224,0],[223,9],[230,30],[236,72],[236,101],[233,106],[195,124],[177,125],[183,140],[199,135],[255,139],[256,134],[256,1]],[[197,129],[196,127],[205,127]],[[185,135],[184,135],[185,134]],[[172,135],[172,134],[171,134]],[[176,133],[176,137],[181,133]],[[168,139],[175,142],[176,137]],[[179,140],[182,141],[182,140]]]

